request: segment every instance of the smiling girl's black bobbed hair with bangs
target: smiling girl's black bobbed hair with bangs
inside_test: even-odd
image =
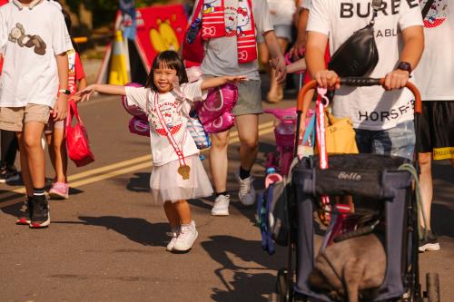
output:
[[[154,92],[158,91],[158,87],[154,84],[154,70],[162,66],[176,70],[176,75],[178,76],[180,84],[188,83],[188,75],[186,74],[182,59],[180,59],[178,54],[174,51],[164,51],[154,58],[152,70],[150,71],[150,74],[148,74],[145,87],[150,87]]]

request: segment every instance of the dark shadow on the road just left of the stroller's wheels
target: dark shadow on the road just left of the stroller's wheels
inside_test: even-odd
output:
[[[285,262],[285,258],[278,256],[284,255],[282,252],[278,250],[274,256],[269,256],[262,251],[260,241],[231,236],[212,236],[209,241],[202,242],[202,248],[221,265],[222,268],[216,269],[214,273],[227,288],[213,287],[212,300],[268,301],[267,296],[274,291],[276,281],[272,271],[277,271]],[[232,257],[237,258],[236,263],[247,264],[244,267],[238,266]],[[228,281],[226,276],[233,276],[229,278],[232,281]]]

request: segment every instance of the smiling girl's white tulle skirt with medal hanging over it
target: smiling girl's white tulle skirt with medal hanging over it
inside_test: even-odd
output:
[[[155,203],[165,201],[192,200],[212,195],[212,183],[208,179],[199,155],[184,159],[191,167],[189,180],[183,180],[178,174],[180,161],[171,161],[163,166],[153,167],[150,188]]]

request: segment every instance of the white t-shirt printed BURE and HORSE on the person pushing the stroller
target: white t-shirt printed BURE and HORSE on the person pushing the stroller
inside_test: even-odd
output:
[[[370,3],[370,0],[312,0],[307,30],[326,34],[334,54],[351,34],[369,24],[373,12]],[[422,25],[421,19],[419,0],[383,0],[374,25],[379,63],[370,77],[384,77],[396,68],[402,48],[401,31]],[[413,119],[413,99],[408,89],[385,92],[380,86],[341,86],[332,110],[337,117],[350,117],[354,128],[387,130]]]

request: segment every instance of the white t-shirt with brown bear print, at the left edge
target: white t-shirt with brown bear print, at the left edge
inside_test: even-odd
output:
[[[73,49],[62,12],[48,1],[33,9],[13,2],[0,7],[0,106],[28,103],[54,107],[58,93],[55,55]]]

